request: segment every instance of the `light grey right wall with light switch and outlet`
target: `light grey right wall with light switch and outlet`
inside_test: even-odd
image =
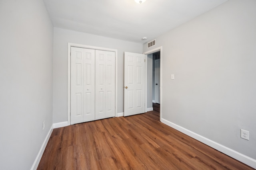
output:
[[[254,161],[255,7],[255,0],[229,0],[156,38],[163,49],[162,118]],[[250,131],[250,141],[240,129]]]

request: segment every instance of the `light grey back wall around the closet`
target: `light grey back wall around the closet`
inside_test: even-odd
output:
[[[142,53],[142,44],[101,37],[88,33],[54,28],[53,59],[53,119],[54,123],[67,121],[68,43],[91,45],[118,50],[118,107],[124,112],[124,52]]]

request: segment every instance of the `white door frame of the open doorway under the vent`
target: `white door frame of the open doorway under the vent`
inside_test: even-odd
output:
[[[160,51],[160,121],[161,121],[162,120],[162,63],[163,63],[163,61],[162,61],[162,54],[163,54],[162,53],[163,52],[162,46],[157,47],[157,48],[152,49],[152,50],[149,50],[149,51],[146,51],[143,54],[148,55],[148,54],[156,53],[158,51]],[[148,72],[147,72],[147,70],[148,70],[148,57],[146,57],[146,83],[148,82]],[[147,85],[146,85],[146,92],[147,92]],[[147,112],[146,109],[148,108],[148,106],[147,106],[147,97],[148,96],[147,96],[147,93],[146,93],[145,112]]]

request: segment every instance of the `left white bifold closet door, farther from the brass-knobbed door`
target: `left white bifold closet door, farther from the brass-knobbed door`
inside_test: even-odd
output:
[[[95,120],[95,50],[71,47],[71,124]]]

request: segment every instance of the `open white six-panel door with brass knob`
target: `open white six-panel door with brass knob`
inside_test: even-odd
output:
[[[146,55],[124,52],[124,116],[145,112]]]

